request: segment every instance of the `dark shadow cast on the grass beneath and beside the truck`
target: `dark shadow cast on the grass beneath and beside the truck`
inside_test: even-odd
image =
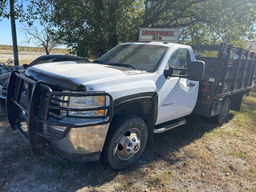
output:
[[[5,120],[1,108],[1,119]],[[230,120],[233,118],[229,116]],[[195,114],[186,117],[187,124],[176,127],[163,134],[155,135],[154,148],[143,153],[140,162],[123,171],[113,171],[101,162],[72,162],[55,154],[46,147],[44,157],[34,158],[29,146],[18,132],[12,131],[6,123],[0,124],[0,188],[6,191],[74,191],[84,187],[100,187],[116,179],[117,175],[140,174],[141,167],[157,161],[168,161],[174,164],[179,159],[171,159],[170,154],[183,146],[201,138],[218,125],[208,118]],[[95,191],[95,189],[93,189]]]

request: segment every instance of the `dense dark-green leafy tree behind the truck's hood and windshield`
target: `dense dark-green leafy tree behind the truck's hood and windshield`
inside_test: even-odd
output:
[[[28,17],[40,15],[54,23],[58,39],[82,56],[137,40],[144,11],[142,0],[41,0],[34,1],[29,10]]]

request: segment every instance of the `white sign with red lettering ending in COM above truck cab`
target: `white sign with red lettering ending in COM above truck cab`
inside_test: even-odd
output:
[[[140,28],[139,41],[178,43],[179,29]]]

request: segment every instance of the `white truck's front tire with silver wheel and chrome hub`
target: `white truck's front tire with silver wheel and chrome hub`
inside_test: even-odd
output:
[[[122,170],[138,162],[148,138],[148,127],[138,116],[116,117],[102,151],[103,163],[114,170]]]

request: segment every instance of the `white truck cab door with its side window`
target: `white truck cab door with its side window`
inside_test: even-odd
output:
[[[165,68],[188,68],[191,62],[190,53],[187,49],[174,51]],[[175,73],[177,71],[175,70]],[[174,75],[186,75],[180,74]],[[187,78],[168,77],[163,74],[158,79],[158,116],[157,122],[164,123],[172,119],[189,115],[195,105],[198,94],[199,83]]]

